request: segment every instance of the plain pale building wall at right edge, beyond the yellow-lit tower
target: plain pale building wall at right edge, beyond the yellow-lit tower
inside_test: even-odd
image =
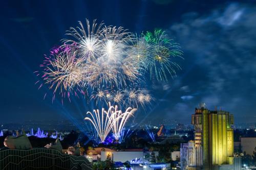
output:
[[[256,147],[256,137],[241,137],[241,149],[246,154],[253,155]]]

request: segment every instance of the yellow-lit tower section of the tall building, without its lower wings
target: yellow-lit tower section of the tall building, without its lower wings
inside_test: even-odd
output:
[[[195,109],[191,124],[195,127],[195,149],[199,158],[195,167],[211,170],[219,165],[233,164],[232,114],[201,106]]]

